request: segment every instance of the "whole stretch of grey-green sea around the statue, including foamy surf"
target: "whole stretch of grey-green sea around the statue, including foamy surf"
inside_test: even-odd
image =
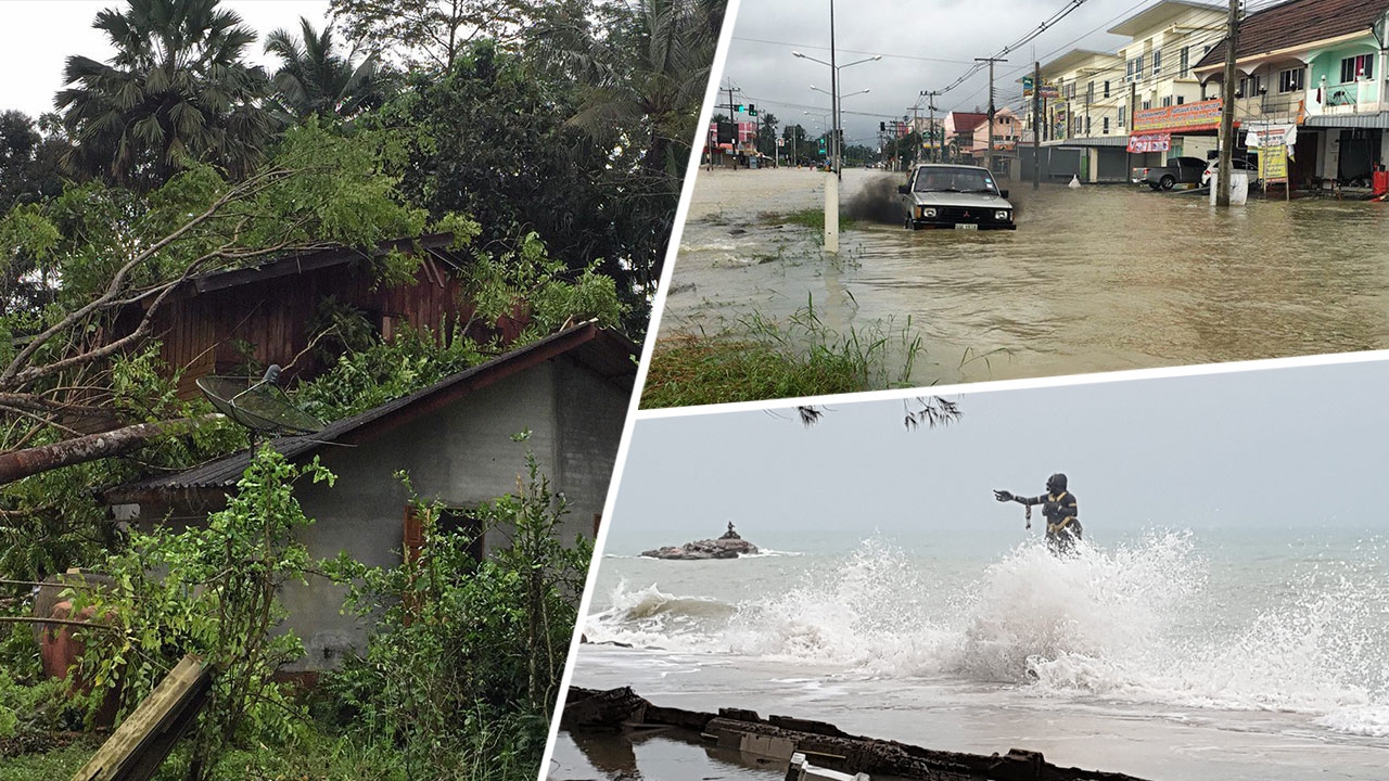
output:
[[[660,561],[610,541],[574,684],[1146,778],[1389,778],[1383,538],[778,542]]]

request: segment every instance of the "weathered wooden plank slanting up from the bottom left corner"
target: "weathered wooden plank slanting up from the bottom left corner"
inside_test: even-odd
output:
[[[203,710],[211,688],[211,668],[185,656],[72,781],[147,781]]]

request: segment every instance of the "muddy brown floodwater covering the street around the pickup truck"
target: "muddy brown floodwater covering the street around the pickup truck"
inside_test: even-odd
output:
[[[843,213],[901,181],[845,171]],[[700,171],[661,334],[811,304],[839,334],[920,335],[911,385],[1389,347],[1386,204],[1000,185],[1017,231],[860,220],[836,258],[770,217],[822,207],[824,174]]]

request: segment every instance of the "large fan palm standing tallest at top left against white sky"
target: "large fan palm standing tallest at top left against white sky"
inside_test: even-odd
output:
[[[240,178],[256,168],[271,121],[265,75],[242,63],[256,33],[218,0],[129,0],[96,15],[108,63],[68,57],[54,104],[72,140],[64,165],[147,190],[192,163]]]

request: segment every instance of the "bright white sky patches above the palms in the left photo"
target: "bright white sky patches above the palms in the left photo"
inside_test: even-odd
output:
[[[92,29],[97,11],[124,7],[115,0],[0,0],[0,72],[6,74],[0,110],[18,108],[35,118],[53,111],[68,57],[106,61],[113,54],[106,36]],[[264,54],[265,35],[279,28],[297,32],[300,17],[321,29],[328,18],[328,0],[222,0],[222,7],[258,33],[247,60],[264,65],[278,63]]]

